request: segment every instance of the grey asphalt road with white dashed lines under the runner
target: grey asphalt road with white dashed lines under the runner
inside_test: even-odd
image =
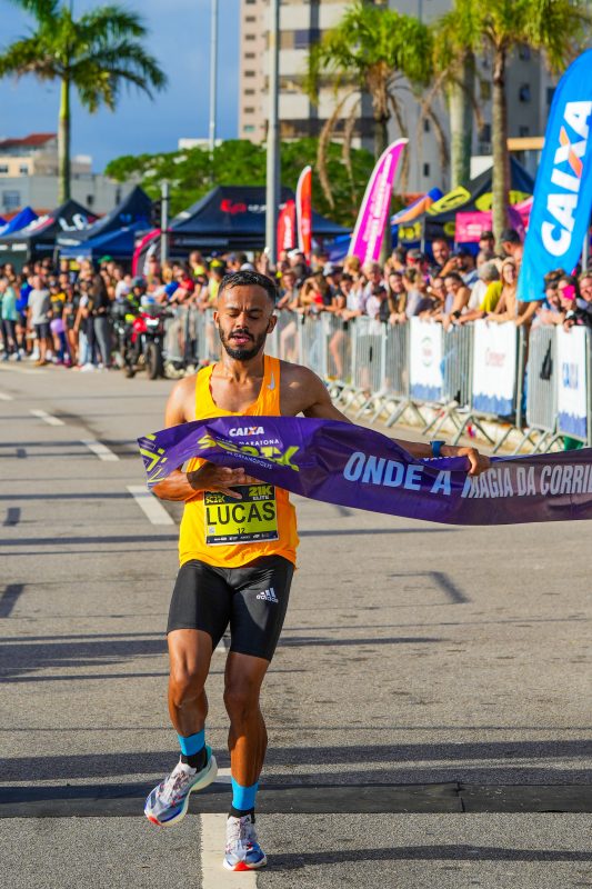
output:
[[[163,630],[180,512],[153,525],[129,487],[170,388],[0,370],[9,889],[247,885],[203,851],[228,785],[175,829],[142,816],[178,756]],[[297,505],[300,570],[263,695],[260,889],[592,886],[588,526]],[[207,731],[228,768],[223,665]]]

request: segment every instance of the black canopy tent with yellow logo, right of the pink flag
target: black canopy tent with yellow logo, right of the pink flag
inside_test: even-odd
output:
[[[423,237],[431,241],[445,236],[454,240],[456,213],[491,210],[493,168],[476,176],[466,186],[459,186],[434,201],[423,217]],[[510,203],[518,203],[534,192],[534,180],[528,170],[510,156]]]

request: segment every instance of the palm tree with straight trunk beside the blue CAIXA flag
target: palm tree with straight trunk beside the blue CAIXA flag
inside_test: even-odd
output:
[[[493,230],[508,224],[510,154],[508,151],[508,58],[520,46],[543,53],[551,71],[560,72],[580,51],[592,19],[589,0],[454,0],[445,17],[456,34],[460,57],[484,49],[491,59]]]

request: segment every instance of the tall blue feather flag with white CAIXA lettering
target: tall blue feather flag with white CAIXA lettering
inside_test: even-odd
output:
[[[524,258],[520,300],[543,299],[543,276],[578,264],[592,208],[592,50],[559,81],[549,114]]]

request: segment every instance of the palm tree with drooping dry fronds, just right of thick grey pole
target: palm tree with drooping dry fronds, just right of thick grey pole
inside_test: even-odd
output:
[[[408,134],[402,92],[409,94],[412,87],[425,88],[430,82],[431,66],[432,37],[425,24],[411,16],[370,6],[362,0],[352,3],[341,21],[311,48],[304,81],[310,100],[318,101],[322,78],[331,77],[334,83],[335,107],[321,131],[318,153],[319,179],[331,204],[325,154],[338,123],[344,120],[343,161],[351,171],[350,146],[362,101],[360,93],[369,94],[374,119],[374,157],[378,160],[388,146],[391,116],[394,116],[401,134]],[[434,122],[437,138],[443,140],[433,110],[430,108],[425,113]],[[405,154],[403,177],[408,162]]]

